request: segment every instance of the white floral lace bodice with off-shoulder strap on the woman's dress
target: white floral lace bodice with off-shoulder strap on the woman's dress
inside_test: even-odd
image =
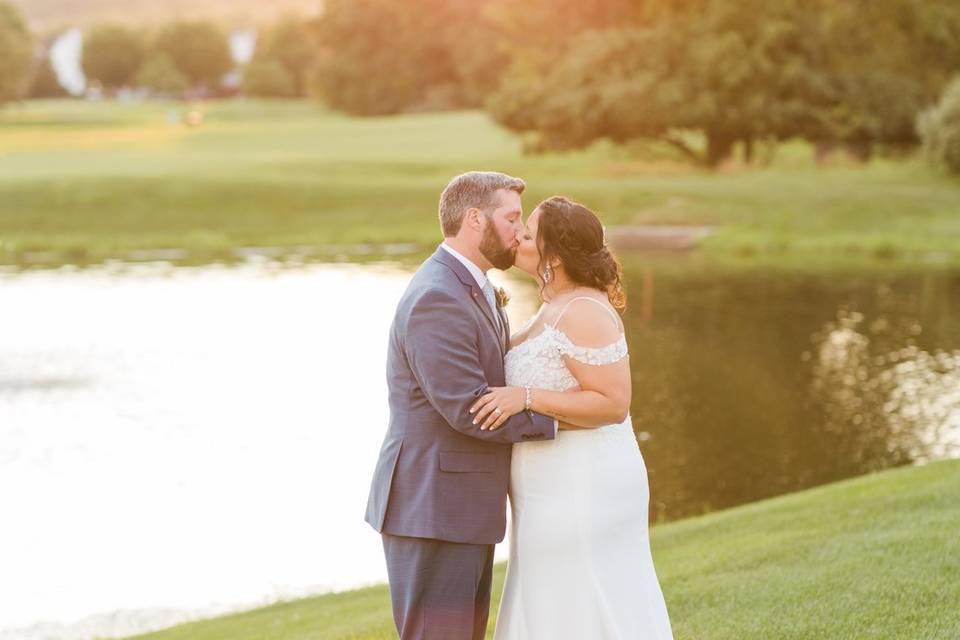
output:
[[[616,342],[606,347],[581,347],[560,329],[544,325],[542,332],[507,352],[504,363],[507,385],[548,391],[572,389],[577,386],[577,379],[570,373],[563,356],[585,364],[612,364],[627,356],[627,338],[621,333]]]

